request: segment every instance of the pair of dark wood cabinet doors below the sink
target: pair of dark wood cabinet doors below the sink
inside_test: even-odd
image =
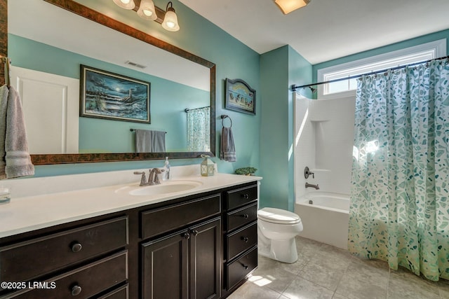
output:
[[[220,218],[142,244],[143,298],[220,298]]]

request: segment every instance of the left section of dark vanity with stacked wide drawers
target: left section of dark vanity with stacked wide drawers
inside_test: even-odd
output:
[[[128,216],[45,231],[0,246],[0,293],[19,290],[0,298],[91,298],[126,284]]]

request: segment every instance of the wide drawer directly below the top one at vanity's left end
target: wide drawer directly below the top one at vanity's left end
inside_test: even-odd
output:
[[[72,296],[80,299],[90,298],[126,279],[128,279],[128,251],[121,251],[52,279],[41,281],[41,284],[47,284],[48,288],[20,291],[13,294],[11,298],[59,299],[72,298]]]

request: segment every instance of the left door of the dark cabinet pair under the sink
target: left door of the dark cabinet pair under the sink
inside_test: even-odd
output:
[[[188,298],[188,245],[187,232],[142,244],[142,298]]]

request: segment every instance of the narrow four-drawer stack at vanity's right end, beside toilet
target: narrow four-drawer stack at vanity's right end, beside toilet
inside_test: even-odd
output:
[[[225,192],[224,296],[257,267],[257,183]]]

